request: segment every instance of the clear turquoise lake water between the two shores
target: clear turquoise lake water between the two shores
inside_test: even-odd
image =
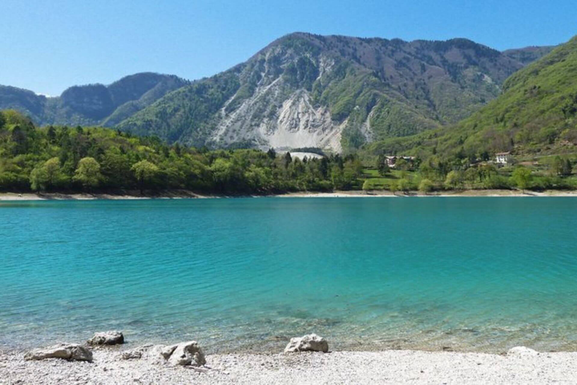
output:
[[[0,203],[0,346],[577,350],[577,199]]]

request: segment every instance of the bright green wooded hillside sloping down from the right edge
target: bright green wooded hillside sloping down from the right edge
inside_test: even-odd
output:
[[[577,151],[577,36],[512,74],[503,94],[454,126],[368,146],[373,154],[407,152],[517,156]]]

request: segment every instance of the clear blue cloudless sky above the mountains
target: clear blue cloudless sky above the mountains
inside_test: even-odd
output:
[[[59,95],[153,71],[186,79],[245,61],[286,33],[469,38],[504,50],[577,34],[575,0],[2,0],[0,84]]]

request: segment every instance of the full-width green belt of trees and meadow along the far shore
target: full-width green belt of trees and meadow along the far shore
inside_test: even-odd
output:
[[[323,154],[319,149],[299,151]],[[515,159],[497,167],[487,151],[399,159],[389,167],[373,149],[322,158],[273,149],[169,145],[100,127],[38,128],[14,110],[0,111],[0,191],[160,195],[186,190],[268,195],[332,190],[576,189],[574,155]],[[538,159],[538,160],[535,160]]]

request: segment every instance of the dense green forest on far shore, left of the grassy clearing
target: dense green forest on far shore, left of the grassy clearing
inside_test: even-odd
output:
[[[0,111],[4,191],[267,194],[350,189],[361,175],[356,155],[301,160],[272,149],[209,151],[107,128],[39,128],[17,111]]]

